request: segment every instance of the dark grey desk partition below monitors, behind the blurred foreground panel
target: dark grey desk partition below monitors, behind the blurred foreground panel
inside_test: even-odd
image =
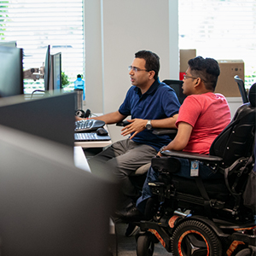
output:
[[[24,100],[0,99],[0,125],[28,132],[71,148],[73,160],[75,93]]]

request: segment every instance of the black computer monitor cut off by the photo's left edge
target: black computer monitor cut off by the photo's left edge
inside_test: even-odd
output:
[[[23,94],[23,50],[0,46],[0,97]]]

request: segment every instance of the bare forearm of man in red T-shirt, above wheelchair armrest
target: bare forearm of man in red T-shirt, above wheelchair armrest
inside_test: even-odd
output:
[[[191,136],[192,130],[192,125],[185,122],[180,122],[178,124],[176,137],[165,148],[162,148],[162,150],[182,151],[189,143],[189,137]],[[160,152],[158,155],[161,155]]]

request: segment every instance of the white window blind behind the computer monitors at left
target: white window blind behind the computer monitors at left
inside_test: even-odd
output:
[[[24,49],[24,69],[42,67],[50,45],[51,54],[61,52],[62,71],[73,83],[84,74],[83,8],[83,0],[0,1],[1,41]]]

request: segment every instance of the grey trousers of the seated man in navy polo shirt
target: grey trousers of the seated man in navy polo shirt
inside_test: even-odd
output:
[[[148,164],[156,154],[157,151],[148,145],[125,139],[113,143],[88,162],[92,173],[100,177],[114,178],[121,184],[121,201],[128,198],[137,200],[140,193],[129,177],[137,168]]]

